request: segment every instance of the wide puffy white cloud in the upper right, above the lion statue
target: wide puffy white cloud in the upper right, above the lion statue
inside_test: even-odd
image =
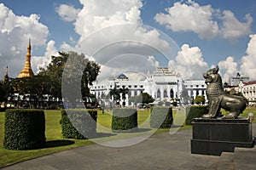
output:
[[[192,0],[174,3],[172,7],[166,8],[166,14],[154,16],[154,20],[172,31],[193,31],[202,39],[220,35],[230,40],[252,32],[253,18],[246,14],[245,19],[246,22],[241,22],[230,10],[221,12],[211,5],[201,6]]]

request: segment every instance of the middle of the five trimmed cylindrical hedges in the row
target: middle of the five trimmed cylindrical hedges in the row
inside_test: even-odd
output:
[[[132,131],[137,129],[137,110],[130,108],[115,108],[112,116],[113,132]]]

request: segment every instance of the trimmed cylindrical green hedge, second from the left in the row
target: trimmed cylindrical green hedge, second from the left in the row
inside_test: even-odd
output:
[[[68,116],[67,116],[68,113]],[[92,118],[92,119],[91,119]],[[66,139],[89,139],[96,135],[97,111],[68,109],[61,111],[62,136]]]

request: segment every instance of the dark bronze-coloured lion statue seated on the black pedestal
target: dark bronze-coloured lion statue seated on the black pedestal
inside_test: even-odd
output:
[[[203,118],[216,118],[220,115],[220,109],[223,108],[230,113],[223,118],[237,118],[247,107],[246,98],[225,94],[222,79],[218,74],[218,65],[216,68],[210,69],[207,73],[203,73],[203,77],[207,83],[207,98],[209,101],[209,112],[203,115]]]

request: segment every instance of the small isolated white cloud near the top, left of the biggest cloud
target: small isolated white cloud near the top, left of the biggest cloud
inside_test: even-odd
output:
[[[56,12],[61,16],[62,20],[73,21],[77,18],[80,9],[74,8],[73,5],[61,4],[55,9]]]

